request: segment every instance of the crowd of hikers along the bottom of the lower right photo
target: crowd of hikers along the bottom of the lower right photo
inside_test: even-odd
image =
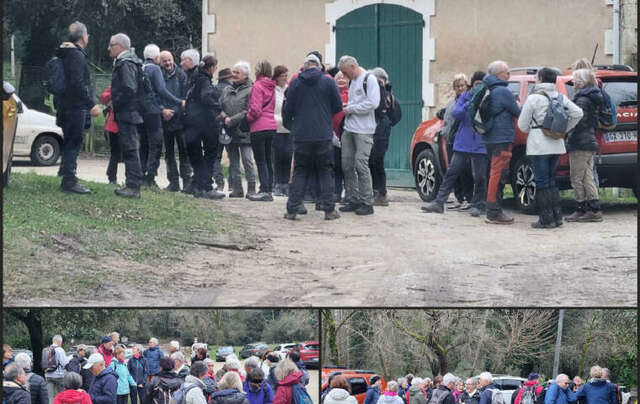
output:
[[[493,384],[489,372],[465,381],[451,373],[433,380],[408,374],[388,382],[385,391],[380,376],[374,375],[369,379],[363,404],[626,404],[622,402],[621,388],[609,377],[609,370],[599,366],[590,369],[587,383],[579,376],[570,380],[566,374],[541,383],[539,374],[530,373],[509,399]],[[351,396],[347,379],[335,375],[322,394],[322,403],[357,404],[357,401]]]

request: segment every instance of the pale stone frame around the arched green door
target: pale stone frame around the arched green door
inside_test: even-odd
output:
[[[435,39],[429,37],[430,16],[435,15],[435,0],[335,0],[325,4],[325,21],[329,24],[329,43],[325,45],[328,63],[336,64],[336,22],[354,10],[372,4],[392,4],[409,8],[422,15],[422,120],[429,118],[429,107],[435,106],[434,85],[429,81],[429,62],[436,60]],[[373,67],[373,66],[372,66]],[[384,66],[382,66],[384,67]]]

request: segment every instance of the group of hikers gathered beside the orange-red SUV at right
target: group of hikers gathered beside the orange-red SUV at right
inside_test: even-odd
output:
[[[509,175],[517,119],[518,128],[528,133],[526,154],[533,166],[538,220],[532,227],[554,228],[564,220],[602,221],[594,163],[599,149],[596,131],[610,124],[615,108],[606,102],[610,98],[588,60],[576,61],[572,70],[573,100],[556,90],[560,71],[544,67],[537,70],[536,84],[522,107],[508,88],[510,72],[504,61],[492,62],[488,74],[477,71],[471,80],[462,73],[456,75],[455,97],[438,114],[444,121],[442,134],[450,164],[435,200],[422,210],[443,213],[453,191],[457,201],[450,201],[450,209],[468,210],[475,217],[486,214],[488,223],[513,223],[502,211],[500,199]],[[560,155],[567,151],[578,208],[563,218],[556,170]]]

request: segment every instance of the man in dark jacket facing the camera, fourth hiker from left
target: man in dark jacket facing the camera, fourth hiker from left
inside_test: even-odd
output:
[[[173,62],[173,55],[169,51],[160,52],[160,64],[167,90],[180,99],[184,99],[187,93],[187,75],[184,70]],[[187,155],[187,143],[185,141],[182,123],[182,104],[167,105],[162,110],[164,127],[165,162],[167,163],[167,179],[169,186],[165,188],[170,192],[180,191],[180,178],[182,177],[182,189],[187,189],[191,184],[193,169]],[[178,144],[178,158],[180,170],[176,164],[174,145]]]

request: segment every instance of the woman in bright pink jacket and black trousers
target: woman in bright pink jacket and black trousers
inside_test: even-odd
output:
[[[266,60],[256,64],[256,81],[249,97],[247,122],[251,132],[251,148],[258,166],[260,190],[247,195],[252,201],[273,201],[273,166],[271,165],[271,142],[276,133],[274,109],[276,103],[276,82],[271,79],[273,70]]]

